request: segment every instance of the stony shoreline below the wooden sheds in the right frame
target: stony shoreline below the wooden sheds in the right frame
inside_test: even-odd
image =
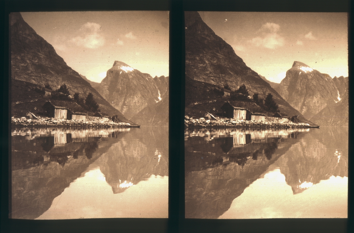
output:
[[[295,127],[311,127],[305,123],[293,123],[291,121],[282,121],[279,118],[267,117],[265,121],[240,120],[230,118],[208,119],[184,116],[185,127],[267,127],[267,128],[295,128]]]

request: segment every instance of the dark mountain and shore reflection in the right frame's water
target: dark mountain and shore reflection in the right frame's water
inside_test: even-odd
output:
[[[293,194],[331,176],[347,176],[346,132],[328,128],[186,130],[185,216],[218,218],[275,164]]]

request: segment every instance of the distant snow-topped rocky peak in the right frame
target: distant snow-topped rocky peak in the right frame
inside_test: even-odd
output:
[[[295,61],[276,90],[296,110],[310,119],[340,100],[348,79],[332,79],[302,62]]]

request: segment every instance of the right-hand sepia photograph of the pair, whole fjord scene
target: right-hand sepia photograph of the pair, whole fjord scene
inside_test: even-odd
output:
[[[348,14],[184,25],[185,218],[347,218]]]

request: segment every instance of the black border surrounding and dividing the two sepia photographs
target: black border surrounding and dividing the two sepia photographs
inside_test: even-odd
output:
[[[205,220],[184,218],[184,11],[348,12],[349,76],[353,59],[353,7],[350,0],[3,0],[0,3],[2,85],[1,232],[354,232],[352,159],[349,157],[348,219]],[[98,218],[80,220],[8,219],[9,46],[8,13],[20,11],[168,10],[170,11],[169,218]],[[353,82],[349,81],[349,91]],[[349,105],[352,101],[349,98]],[[349,119],[352,110],[349,108]],[[349,142],[353,138],[349,121]],[[349,143],[349,154],[353,153]]]

